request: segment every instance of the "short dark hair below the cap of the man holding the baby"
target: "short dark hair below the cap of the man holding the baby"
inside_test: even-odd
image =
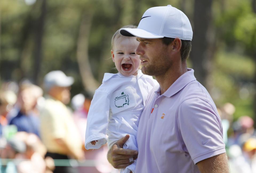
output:
[[[162,41],[163,44],[169,45],[174,39],[175,38],[163,37]],[[181,61],[184,61],[189,57],[191,47],[192,44],[190,40],[181,40]]]

